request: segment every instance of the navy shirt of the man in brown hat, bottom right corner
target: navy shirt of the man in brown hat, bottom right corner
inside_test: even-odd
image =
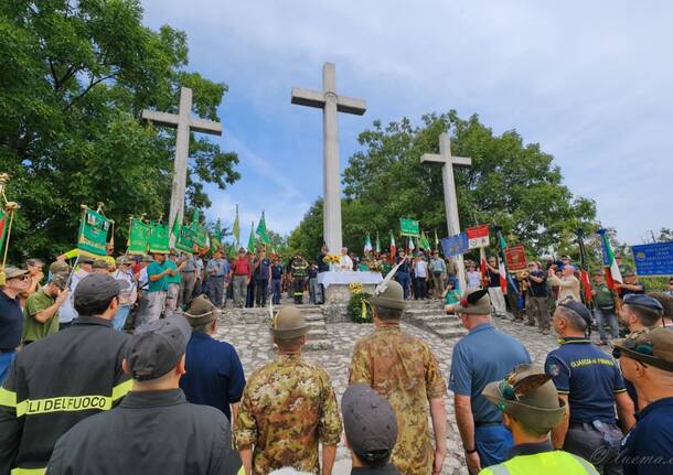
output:
[[[640,411],[638,423],[622,441],[619,460],[624,475],[673,473],[673,398]]]

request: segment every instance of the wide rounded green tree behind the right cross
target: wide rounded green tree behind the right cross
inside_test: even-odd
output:
[[[360,249],[366,231],[397,235],[399,217],[420,219],[424,229],[446,235],[441,168],[420,163],[423,153],[438,152],[446,130],[451,130],[452,153],[472,158],[472,166],[455,169],[463,228],[499,224],[509,242],[525,242],[535,253],[555,251],[567,230],[596,229],[594,202],[573,196],[540,144],[525,144],[516,131],[495,136],[477,116],[464,120],[449,111],[424,116],[419,127],[406,118],[385,127],[374,121],[360,134],[363,150],[351,156],[343,176],[346,246]],[[321,244],[322,203],[317,202],[290,245],[313,251]]]

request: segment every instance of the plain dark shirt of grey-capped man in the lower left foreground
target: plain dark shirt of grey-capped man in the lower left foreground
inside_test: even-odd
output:
[[[234,475],[241,458],[224,414],[181,389],[129,392],[58,440],[47,474]]]

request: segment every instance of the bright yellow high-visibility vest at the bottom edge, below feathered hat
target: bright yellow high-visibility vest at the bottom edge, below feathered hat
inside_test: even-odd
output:
[[[564,451],[516,455],[506,462],[492,465],[479,475],[598,475],[589,462]]]

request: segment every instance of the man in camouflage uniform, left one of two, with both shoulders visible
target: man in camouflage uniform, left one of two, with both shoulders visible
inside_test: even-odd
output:
[[[250,376],[234,427],[246,475],[286,466],[319,474],[319,441],[322,473],[332,473],[341,418],[329,375],[301,358],[308,331],[296,306],[274,319],[271,335],[279,355]]]

